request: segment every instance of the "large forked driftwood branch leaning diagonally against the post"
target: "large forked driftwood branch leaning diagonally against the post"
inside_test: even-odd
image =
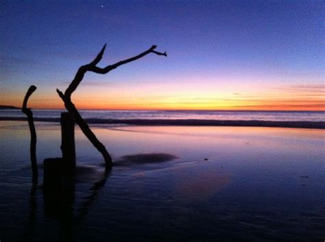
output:
[[[158,56],[167,56],[166,52],[160,53],[158,51],[155,51],[154,49],[156,49],[156,47],[157,47],[156,45],[153,45],[152,47],[150,47],[149,49],[147,49],[143,53],[140,53],[137,56],[128,58],[126,60],[121,60],[120,62],[117,62],[112,65],[108,65],[104,68],[100,68],[96,65],[99,63],[99,61],[103,57],[104,51],[106,49],[106,44],[105,44],[104,47],[101,49],[101,51],[96,56],[96,58],[91,63],[86,64],[84,66],[80,66],[77,73],[75,74],[75,78],[73,79],[73,81],[71,82],[71,84],[69,85],[67,90],[65,90],[64,94],[60,90],[58,90],[58,89],[56,90],[58,92],[58,95],[61,97],[62,101],[64,102],[64,106],[67,108],[67,110],[69,112],[71,112],[71,114],[74,115],[75,122],[77,123],[77,125],[79,125],[82,132],[84,132],[84,134],[89,139],[89,141],[91,141],[91,143],[98,149],[98,151],[104,157],[104,160],[106,163],[106,168],[110,168],[112,166],[112,158],[110,158],[110,154],[108,154],[106,147],[102,143],[99,142],[99,140],[97,139],[95,134],[89,128],[86,121],[84,121],[84,119],[82,119],[80,113],[77,111],[77,108],[75,108],[75,105],[71,101],[71,95],[75,91],[75,89],[77,89],[77,86],[79,86],[80,82],[82,82],[82,79],[84,78],[84,74],[87,71],[91,71],[91,72],[99,73],[99,74],[106,74],[106,73],[112,71],[113,69],[116,69],[117,67],[121,66],[122,64],[127,64],[134,60],[138,60],[139,58],[146,56],[148,53],[155,53]]]

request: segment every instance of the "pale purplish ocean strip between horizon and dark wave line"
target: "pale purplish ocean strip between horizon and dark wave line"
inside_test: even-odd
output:
[[[66,110],[33,110],[34,117],[58,119]],[[80,110],[84,119],[105,121],[110,119],[152,120],[152,119],[191,119],[219,121],[325,121],[325,111],[205,111],[205,110]],[[21,118],[21,110],[0,110],[0,118]]]

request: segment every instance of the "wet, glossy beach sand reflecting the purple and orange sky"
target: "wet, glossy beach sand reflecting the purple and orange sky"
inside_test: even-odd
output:
[[[325,130],[93,125],[115,162],[76,128],[77,176],[64,216],[42,190],[60,126],[0,121],[1,241],[323,241]],[[61,207],[60,207],[61,208]],[[60,213],[60,209],[58,209]],[[54,213],[55,214],[55,213]]]

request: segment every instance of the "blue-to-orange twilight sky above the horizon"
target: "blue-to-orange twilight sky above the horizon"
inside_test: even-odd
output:
[[[324,1],[1,1],[0,105],[63,109],[325,110]]]

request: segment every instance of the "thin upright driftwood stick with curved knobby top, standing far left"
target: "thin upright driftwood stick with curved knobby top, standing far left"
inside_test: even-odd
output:
[[[36,160],[36,130],[34,125],[34,118],[33,118],[33,112],[29,108],[27,108],[27,101],[29,97],[34,93],[36,90],[36,86],[30,86],[27,90],[27,93],[25,95],[24,101],[23,101],[23,108],[21,110],[23,113],[27,115],[28,125],[29,125],[29,131],[30,131],[30,161],[32,164],[32,173],[33,178],[32,182],[35,184],[38,181],[38,169],[37,169],[37,160]]]

